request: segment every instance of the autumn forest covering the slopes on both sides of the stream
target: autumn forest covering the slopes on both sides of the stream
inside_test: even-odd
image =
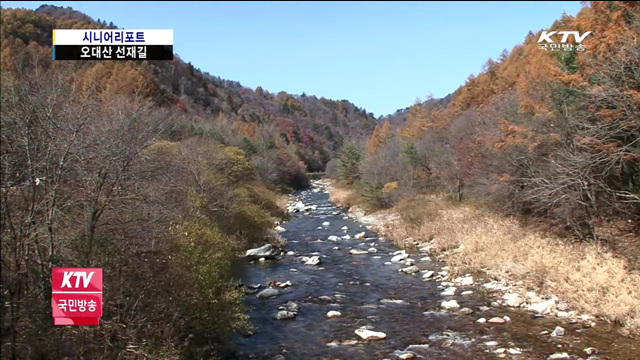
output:
[[[1,11],[3,358],[222,354],[250,330],[234,258],[278,241],[285,196],[310,172],[372,209],[442,194],[567,241],[638,238],[638,2],[585,2],[551,25],[591,31],[584,52],[539,49],[530,33],[455,93],[380,119],[178,55],[54,62],[53,29],[117,25],[48,5]],[[640,242],[629,244],[618,250],[633,268]],[[117,279],[102,326],[53,326],[59,266]]]

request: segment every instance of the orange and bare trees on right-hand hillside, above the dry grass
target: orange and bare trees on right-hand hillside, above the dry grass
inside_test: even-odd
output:
[[[591,31],[584,51],[544,50],[540,32],[529,33],[449,99],[382,119],[343,153],[358,153],[359,167],[339,175],[374,206],[435,191],[545,218],[582,239],[620,220],[637,231],[639,14],[635,1],[583,3],[549,31]],[[385,191],[390,184],[396,190]]]

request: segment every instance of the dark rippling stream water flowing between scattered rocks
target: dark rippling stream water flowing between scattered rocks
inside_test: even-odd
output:
[[[640,347],[631,339],[621,337],[604,322],[586,327],[582,322],[569,324],[553,316],[533,318],[523,310],[504,306],[491,307],[491,300],[482,294],[481,286],[458,286],[456,295],[442,296],[438,281],[425,281],[422,273],[408,275],[398,272],[404,264],[385,265],[398,249],[363,224],[347,219],[343,210],[329,202],[328,194],[319,184],[294,194],[295,201],[315,205],[314,210],[296,212],[282,224],[286,231],[286,251],[275,260],[243,262],[238,276],[242,283],[262,284],[269,281],[290,281],[292,286],[280,289],[279,296],[259,299],[246,297],[250,321],[255,326],[252,336],[235,339],[234,359],[398,359],[411,353],[415,359],[547,359],[555,353],[567,353],[570,359],[640,359]],[[315,189],[315,190],[314,190]],[[329,222],[328,226],[323,226]],[[342,228],[346,226],[347,230]],[[364,239],[354,239],[365,232]],[[340,237],[349,235],[351,239]],[[330,241],[336,235],[340,239]],[[335,249],[338,247],[338,249]],[[351,255],[351,249],[375,253]],[[302,256],[320,256],[319,265],[305,265]],[[421,270],[436,273],[446,264],[426,255],[411,254]],[[292,269],[297,271],[293,272]],[[473,295],[461,292],[473,290]],[[327,298],[330,297],[330,298]],[[320,298],[323,297],[323,298]],[[443,311],[443,300],[457,300],[460,307],[472,309],[470,315]],[[402,300],[389,302],[387,300]],[[276,320],[280,306],[292,301],[298,304],[293,319]],[[489,309],[482,311],[480,307]],[[339,311],[342,316],[328,318],[327,312]],[[484,317],[509,316],[502,325],[477,323]],[[551,333],[556,326],[565,329],[563,336]],[[362,340],[355,330],[368,326],[383,332],[383,340]],[[497,342],[497,345],[487,345]],[[598,353],[584,349],[595,347]],[[504,349],[504,353],[496,353]],[[510,352],[511,351],[511,352]],[[521,352],[517,354],[517,352]],[[411,357],[412,355],[406,355]]]

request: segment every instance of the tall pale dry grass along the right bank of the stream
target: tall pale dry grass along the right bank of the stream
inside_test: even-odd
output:
[[[349,199],[348,190],[335,197]],[[538,294],[556,295],[573,309],[617,322],[623,333],[640,334],[640,274],[605,248],[570,244],[435,196],[404,200],[392,211],[400,217],[383,224],[385,236],[401,246],[412,245],[407,238],[433,239],[455,273],[485,271],[522,281]]]

